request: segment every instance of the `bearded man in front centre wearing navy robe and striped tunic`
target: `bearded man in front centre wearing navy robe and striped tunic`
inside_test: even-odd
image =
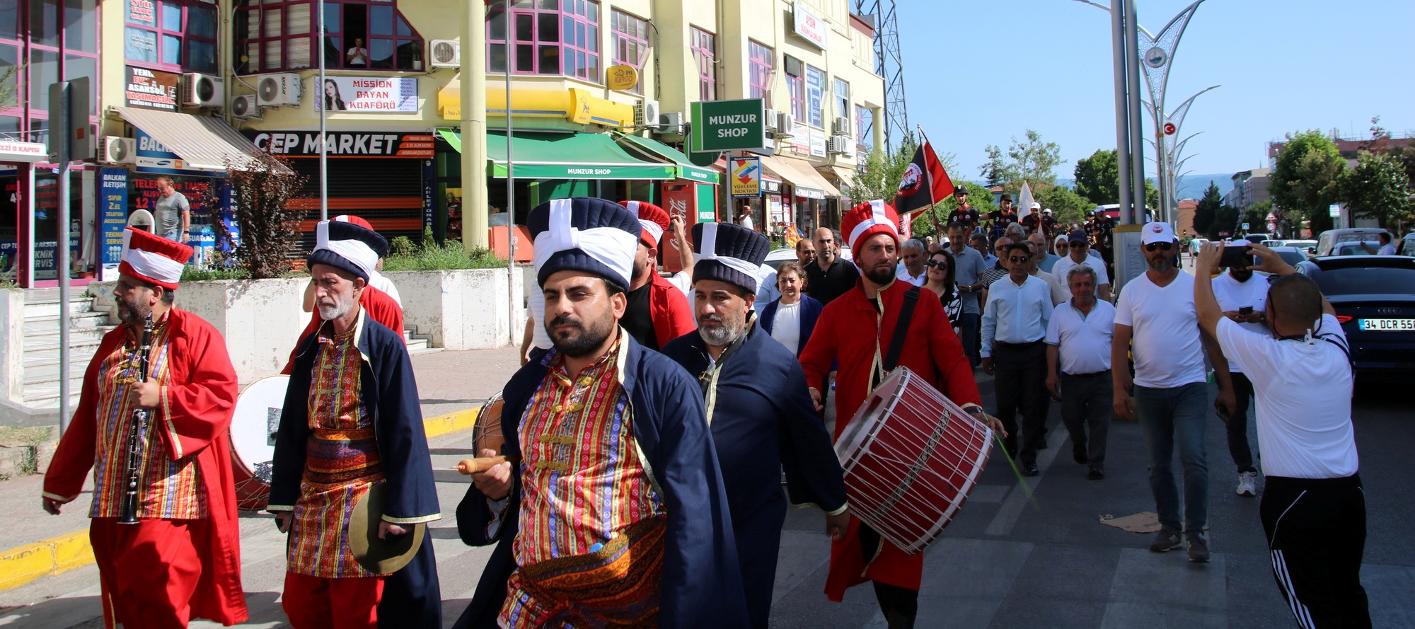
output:
[[[457,507],[463,541],[497,544],[457,626],[746,626],[702,392],[620,326],[638,220],[562,198],[528,224],[553,348],[502,391],[515,463]]]

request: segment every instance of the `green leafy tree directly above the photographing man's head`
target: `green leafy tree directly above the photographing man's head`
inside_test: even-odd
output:
[[[1298,224],[1310,221],[1316,237],[1332,228],[1327,207],[1340,197],[1339,183],[1346,171],[1346,160],[1336,142],[1313,129],[1288,133],[1288,144],[1278,153],[1276,167],[1268,181],[1272,203]]]

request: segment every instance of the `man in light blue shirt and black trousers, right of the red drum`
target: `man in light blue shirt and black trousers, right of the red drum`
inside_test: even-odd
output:
[[[1046,368],[1043,339],[1051,320],[1051,289],[1033,278],[1032,249],[1016,242],[1007,245],[1007,275],[993,282],[982,313],[982,370],[996,375],[995,416],[1009,435],[1003,441],[1009,455],[1019,455],[1022,473],[1036,476],[1037,450],[1044,448],[1047,421]],[[1022,449],[1017,449],[1017,411],[1022,411]]]

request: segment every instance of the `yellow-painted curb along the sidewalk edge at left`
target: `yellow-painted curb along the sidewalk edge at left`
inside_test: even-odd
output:
[[[423,432],[432,439],[466,431],[477,424],[478,415],[481,405],[424,419]],[[0,591],[92,562],[93,547],[89,545],[88,528],[4,550],[0,551]]]

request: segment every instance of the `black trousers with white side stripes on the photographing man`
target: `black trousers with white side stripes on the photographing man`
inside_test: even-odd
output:
[[[1298,625],[1307,629],[1371,626],[1361,586],[1361,552],[1365,550],[1361,477],[1268,476],[1261,514],[1272,554],[1272,575]]]

